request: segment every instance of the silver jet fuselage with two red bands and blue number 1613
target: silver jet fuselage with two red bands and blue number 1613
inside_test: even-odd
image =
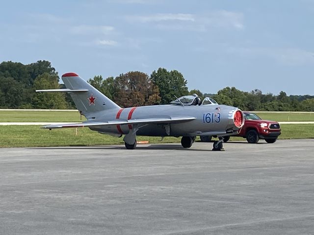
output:
[[[226,135],[226,131],[234,133],[239,128],[235,125],[234,114],[241,112],[227,105],[153,105],[124,108],[114,111],[94,113],[91,119],[95,121],[129,120],[137,118],[161,118],[169,116],[193,116],[196,119],[184,123],[147,124],[136,132],[138,136],[200,136]],[[132,125],[92,126],[91,130],[114,136],[127,135]],[[218,134],[219,136],[219,134]]]

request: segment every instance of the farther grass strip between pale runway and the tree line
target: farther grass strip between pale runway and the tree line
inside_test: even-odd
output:
[[[258,113],[260,118],[273,121],[314,121],[314,114]],[[0,111],[0,122],[79,122],[78,112],[71,111]]]

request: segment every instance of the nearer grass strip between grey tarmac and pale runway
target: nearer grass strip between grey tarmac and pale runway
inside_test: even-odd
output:
[[[282,135],[279,136],[279,139],[314,138],[313,124],[283,124],[281,126]],[[244,139],[232,137],[230,140]],[[160,138],[157,137],[137,137],[137,141],[180,143],[181,138],[165,137],[163,141],[160,141]],[[78,128],[78,135],[76,135],[75,128],[49,131],[40,129],[40,126],[0,126],[0,147],[91,146],[107,144],[124,144],[124,142],[123,138],[102,135],[88,128]]]

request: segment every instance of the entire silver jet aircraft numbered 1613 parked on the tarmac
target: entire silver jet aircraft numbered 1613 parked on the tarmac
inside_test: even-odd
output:
[[[74,72],[62,75],[66,89],[36,92],[69,93],[79,113],[87,119],[77,124],[53,124],[42,128],[88,127],[101,134],[124,136],[127,149],[136,147],[136,136],[182,137],[184,148],[192,146],[196,136],[217,136],[212,150],[223,149],[223,137],[234,135],[244,124],[240,109],[217,104],[206,97],[188,95],[168,105],[121,108]]]

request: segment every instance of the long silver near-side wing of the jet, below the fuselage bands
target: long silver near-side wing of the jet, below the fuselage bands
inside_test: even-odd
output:
[[[47,125],[41,128],[55,129],[55,128],[76,128],[88,126],[108,126],[108,125],[129,125],[129,124],[164,124],[164,123],[180,123],[196,119],[191,116],[172,116],[169,118],[140,118],[130,120],[112,120],[112,121],[84,121],[76,124],[55,124]]]

